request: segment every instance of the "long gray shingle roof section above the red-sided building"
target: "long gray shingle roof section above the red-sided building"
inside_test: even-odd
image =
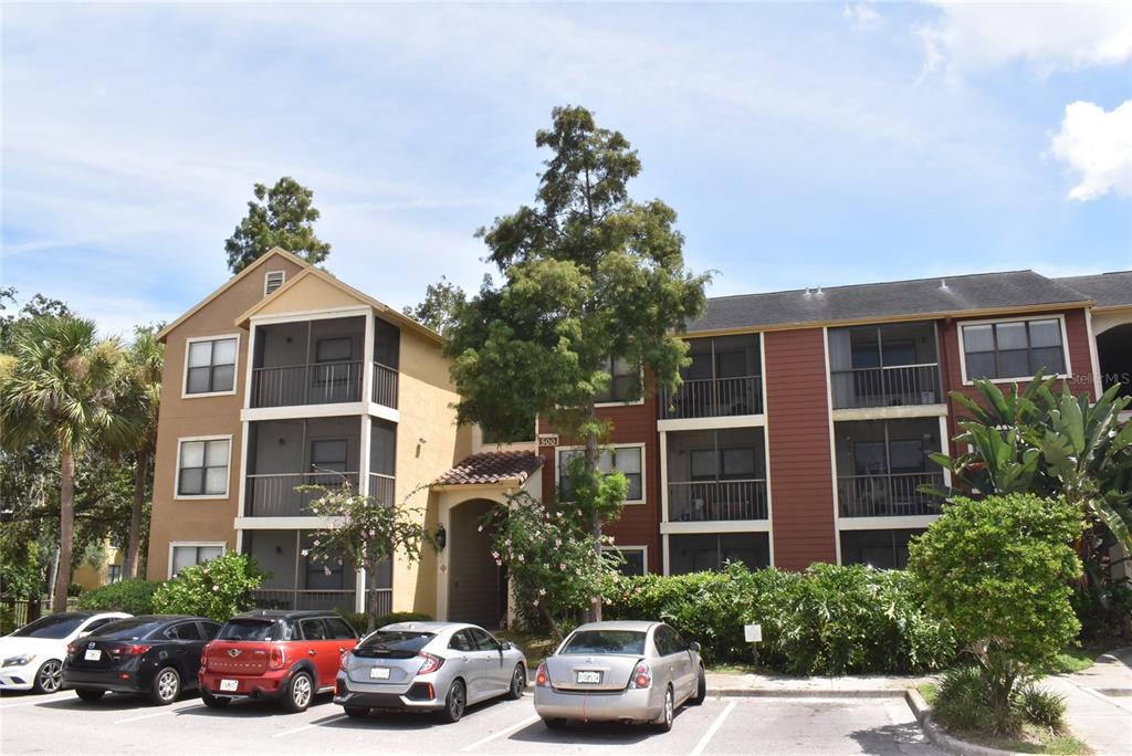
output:
[[[688,333],[961,313],[966,310],[1022,308],[1091,299],[1034,270],[979,273],[808,291],[717,297],[707,300],[703,317],[688,324]]]

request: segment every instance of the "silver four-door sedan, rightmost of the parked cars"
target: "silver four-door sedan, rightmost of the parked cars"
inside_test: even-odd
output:
[[[661,622],[590,622],[539,664],[534,710],[551,729],[578,720],[667,732],[677,706],[698,705],[706,693],[698,643]]]

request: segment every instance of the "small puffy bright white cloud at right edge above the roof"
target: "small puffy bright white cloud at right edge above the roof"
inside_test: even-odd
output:
[[[1050,152],[1079,181],[1070,199],[1083,203],[1109,191],[1132,196],[1132,100],[1110,112],[1091,102],[1065,105]]]

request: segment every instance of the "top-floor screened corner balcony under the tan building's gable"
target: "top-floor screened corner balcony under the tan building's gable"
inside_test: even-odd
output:
[[[372,387],[365,390],[366,318],[256,327],[251,407],[361,402],[397,406],[398,332],[375,320]]]

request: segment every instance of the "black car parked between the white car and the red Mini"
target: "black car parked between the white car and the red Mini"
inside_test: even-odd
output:
[[[67,646],[63,685],[83,701],[108,690],[164,705],[197,687],[200,651],[220,630],[204,617],[144,615],[118,620]]]

